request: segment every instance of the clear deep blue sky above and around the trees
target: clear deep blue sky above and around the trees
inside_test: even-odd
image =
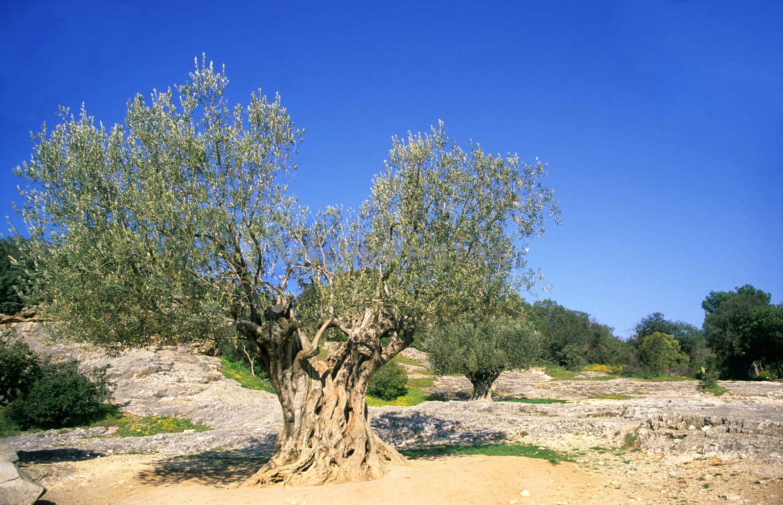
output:
[[[783,2],[0,4],[0,215],[30,131],[226,65],[305,128],[294,192],[356,206],[391,135],[549,163],[561,226],[530,244],[552,291],[626,336],[701,326],[710,291],[783,301]],[[13,217],[12,217],[13,219]],[[526,297],[532,301],[533,296]]]

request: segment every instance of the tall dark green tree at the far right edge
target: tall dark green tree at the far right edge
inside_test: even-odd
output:
[[[783,306],[770,293],[744,285],[710,292],[702,302],[706,342],[721,377],[783,376]]]

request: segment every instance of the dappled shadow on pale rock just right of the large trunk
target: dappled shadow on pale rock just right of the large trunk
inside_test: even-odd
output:
[[[417,410],[384,412],[373,416],[370,424],[381,439],[397,449],[496,443],[506,438],[500,430],[467,426],[459,420],[422,414]]]

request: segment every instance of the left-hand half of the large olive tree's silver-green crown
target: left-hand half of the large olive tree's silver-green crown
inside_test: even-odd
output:
[[[44,125],[20,209],[49,321],[74,338],[144,345],[197,338],[274,292],[301,140],[280,96],[229,108],[226,77],[128,101],[106,128],[84,109]]]

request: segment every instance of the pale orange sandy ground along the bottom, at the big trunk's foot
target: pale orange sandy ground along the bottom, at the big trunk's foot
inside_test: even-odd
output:
[[[377,481],[309,488],[236,488],[258,464],[202,464],[150,454],[34,464],[27,470],[49,481],[38,505],[783,503],[783,479],[770,477],[769,468],[742,461],[673,463],[641,453],[628,457],[605,455],[581,465],[524,457],[431,457],[393,467]]]

